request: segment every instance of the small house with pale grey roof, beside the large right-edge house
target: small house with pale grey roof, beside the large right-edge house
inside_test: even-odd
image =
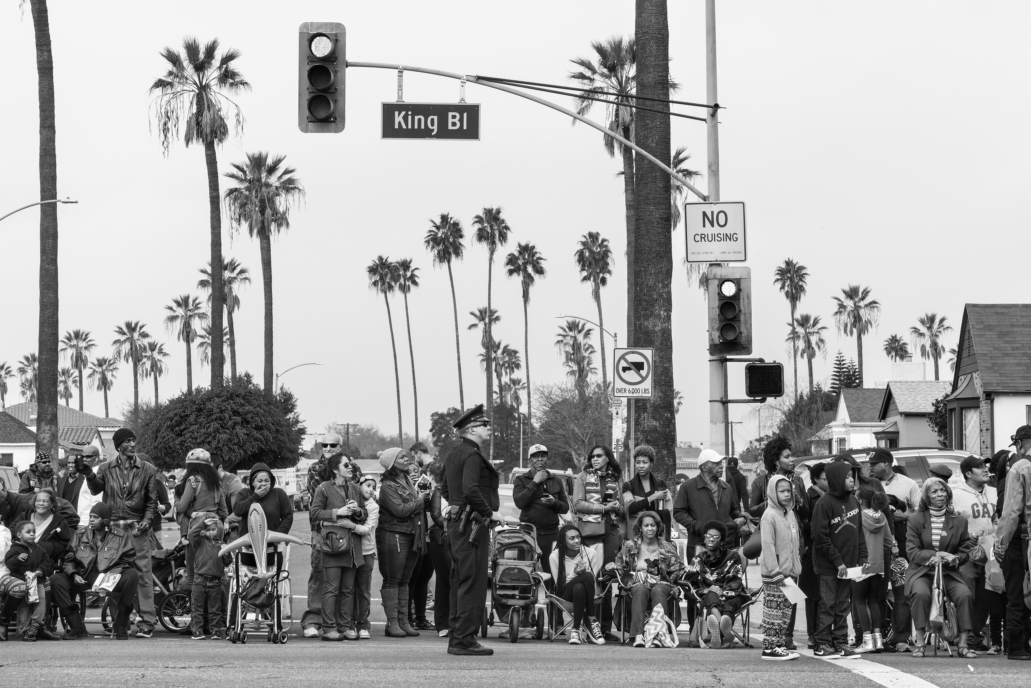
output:
[[[888,383],[878,420],[885,426],[873,433],[877,447],[938,447],[938,434],[927,424],[934,401],[952,390],[947,381],[900,381]]]

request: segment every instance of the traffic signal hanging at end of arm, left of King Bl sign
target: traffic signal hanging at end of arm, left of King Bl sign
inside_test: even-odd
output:
[[[298,33],[297,126],[306,134],[343,131],[346,33],[336,22],[305,22]]]

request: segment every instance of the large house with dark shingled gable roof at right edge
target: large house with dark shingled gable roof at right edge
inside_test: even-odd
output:
[[[946,444],[990,457],[1031,424],[1031,303],[967,303],[959,335]]]

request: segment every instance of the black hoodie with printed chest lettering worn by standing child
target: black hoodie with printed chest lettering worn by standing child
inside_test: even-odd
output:
[[[827,493],[812,510],[812,568],[821,576],[837,576],[838,566],[866,563],[866,542],[859,501],[847,490],[855,469],[843,461],[827,464]]]

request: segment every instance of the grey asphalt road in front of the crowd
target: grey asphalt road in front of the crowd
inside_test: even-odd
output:
[[[166,531],[165,542],[174,534]],[[294,533],[307,534],[307,516],[298,514]],[[301,554],[295,552],[295,554]],[[306,553],[303,553],[306,555]],[[291,574],[303,594],[306,556],[295,557]],[[378,597],[376,574],[372,596]],[[296,599],[298,619],[305,599]],[[865,655],[853,660],[809,656],[790,662],[767,662],[758,649],[640,650],[606,645],[570,647],[565,642],[497,637],[499,627],[483,641],[492,657],[454,657],[446,641],[432,633],[414,638],[387,638],[383,610],[372,603],[373,637],[353,643],[324,643],[300,637],[299,627],[285,646],[252,635],[247,645],[192,641],[159,628],[148,641],[104,638],[75,643],[19,642],[0,644],[0,677],[9,686],[253,686],[255,684],[361,685],[367,687],[429,684],[502,686],[518,681],[528,686],[676,685],[691,688],[759,688],[813,686],[851,688],[969,688],[1025,686],[1031,666],[1005,657],[975,660],[945,656],[912,659],[908,655]],[[378,623],[376,623],[378,622]],[[91,625],[91,629],[96,625]],[[686,634],[681,633],[681,641]],[[757,648],[760,643],[756,643]]]

